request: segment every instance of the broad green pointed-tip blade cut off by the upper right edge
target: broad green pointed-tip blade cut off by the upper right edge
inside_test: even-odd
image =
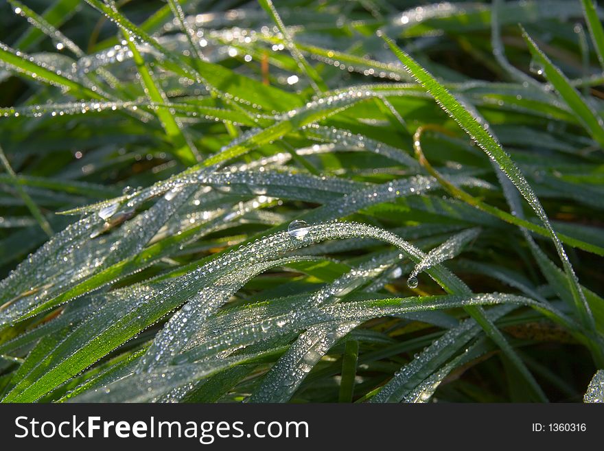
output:
[[[538,70],[543,72],[545,78],[554,86],[560,97],[577,114],[585,129],[599,143],[600,147],[604,148],[604,121],[602,118],[583,100],[579,91],[570,85],[564,73],[555,67],[546,54],[537,47],[535,41],[526,33],[524,28],[522,28],[522,36],[526,44],[529,45],[533,60],[539,67]]]

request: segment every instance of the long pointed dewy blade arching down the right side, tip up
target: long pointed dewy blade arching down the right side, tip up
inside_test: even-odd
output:
[[[572,291],[575,308],[577,309],[577,313],[581,316],[581,321],[583,324],[594,330],[595,324],[593,316],[590,312],[589,305],[583,296],[583,292],[579,288],[579,281],[577,280],[577,276],[574,274],[574,270],[568,260],[566,255],[566,251],[564,251],[564,247],[562,246],[558,236],[553,230],[549,219],[539,202],[537,196],[533,192],[533,189],[524,178],[524,175],[509,155],[501,148],[500,144],[491,136],[491,134],[484,128],[483,124],[480,124],[474,116],[462,105],[456,98],[449,93],[447,89],[445,89],[437,80],[434,79],[425,69],[413,60],[408,54],[399,49],[397,45],[391,41],[390,38],[383,36],[384,41],[389,45],[392,51],[396,54],[399,60],[403,63],[406,69],[415,77],[417,82],[423,86],[428,93],[430,93],[435,100],[437,100],[438,104],[443,108],[447,113],[451,115],[453,119],[467,132],[467,134],[472,137],[472,139],[476,140],[478,146],[482,148],[489,158],[496,161],[501,170],[508,176],[508,178],[512,181],[512,183],[518,188],[522,196],[526,199],[526,201],[531,205],[531,208],[540,220],[542,220],[548,235],[552,239],[555,244],[556,251],[561,259],[561,262],[564,266],[564,271],[566,273],[566,277],[568,280],[568,284],[570,286],[570,290]]]

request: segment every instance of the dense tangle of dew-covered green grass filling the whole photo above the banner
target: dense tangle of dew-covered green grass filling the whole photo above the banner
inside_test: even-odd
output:
[[[0,398],[603,401],[603,14],[8,0]]]

